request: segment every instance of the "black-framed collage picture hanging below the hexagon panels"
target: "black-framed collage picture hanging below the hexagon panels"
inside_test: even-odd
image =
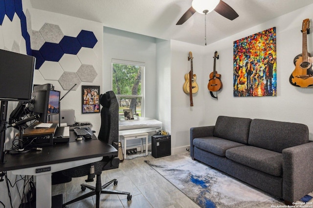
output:
[[[82,86],[82,113],[100,113],[100,86]]]

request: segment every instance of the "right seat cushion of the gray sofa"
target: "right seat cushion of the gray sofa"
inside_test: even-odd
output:
[[[242,146],[226,150],[226,157],[232,161],[271,175],[281,176],[283,155],[253,146]]]

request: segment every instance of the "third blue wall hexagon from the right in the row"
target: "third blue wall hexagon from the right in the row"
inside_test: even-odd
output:
[[[51,42],[45,42],[44,45],[39,49],[39,52],[46,61],[59,61],[64,55],[60,45]]]

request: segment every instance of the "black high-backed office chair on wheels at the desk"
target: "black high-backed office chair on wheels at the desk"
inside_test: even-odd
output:
[[[118,102],[113,91],[109,91],[106,94],[100,95],[100,104],[102,105],[101,109],[101,127],[98,135],[98,139],[106,142],[108,144],[114,145],[118,143]],[[114,145],[115,146],[115,145]],[[116,146],[115,146],[116,147]],[[90,150],[92,151],[92,150]],[[129,192],[110,190],[106,189],[109,185],[117,185],[117,180],[113,179],[112,181],[102,185],[101,184],[101,173],[102,170],[110,170],[118,168],[120,159],[117,155],[103,157],[101,161],[94,162],[88,165],[83,165],[67,170],[63,170],[62,173],[70,177],[81,177],[88,175],[86,182],[93,181],[93,178],[96,175],[96,186],[90,186],[87,184],[81,184],[81,189],[86,190],[90,189],[89,193],[86,193],[76,199],[73,199],[65,204],[63,207],[66,207],[69,204],[80,201],[82,199],[88,198],[90,196],[96,195],[96,208],[99,208],[100,203],[100,194],[126,194],[127,200],[132,200],[132,195]]]

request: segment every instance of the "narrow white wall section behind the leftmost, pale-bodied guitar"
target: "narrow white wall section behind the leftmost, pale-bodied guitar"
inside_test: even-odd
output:
[[[199,45],[171,40],[171,139],[172,154],[186,151],[189,147],[190,127],[205,124],[203,122],[207,113],[205,112],[206,96],[204,88],[206,72],[205,53],[206,48]],[[193,73],[197,75],[196,82],[199,85],[197,94],[193,94],[193,104],[190,106],[190,96],[183,92],[185,74],[191,70],[191,61],[188,61],[189,52],[193,56]]]

